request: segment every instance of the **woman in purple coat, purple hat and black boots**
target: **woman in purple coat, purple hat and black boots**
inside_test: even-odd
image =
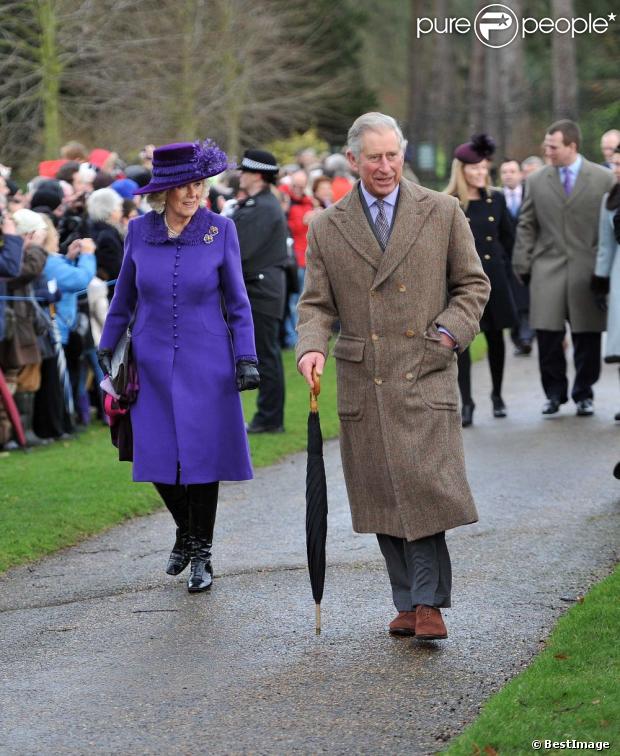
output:
[[[259,382],[252,315],[235,225],[203,207],[205,179],[226,167],[210,141],[155,150],[139,191],[154,210],[129,224],[99,351],[109,373],[134,317],[133,479],[153,482],[170,510],[177,532],[166,572],[191,561],[191,593],[212,583],[219,481],[252,478],[238,394]]]

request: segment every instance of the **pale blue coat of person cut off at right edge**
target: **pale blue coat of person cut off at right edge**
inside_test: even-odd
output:
[[[608,196],[606,194],[601,203],[594,273],[609,278],[605,362],[620,362],[620,244],[614,235],[614,215],[618,211],[607,209]]]

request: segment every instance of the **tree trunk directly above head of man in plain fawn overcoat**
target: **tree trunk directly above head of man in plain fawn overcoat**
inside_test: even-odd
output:
[[[554,18],[572,18],[573,0],[552,0]],[[552,35],[553,118],[577,120],[577,50],[569,34]]]

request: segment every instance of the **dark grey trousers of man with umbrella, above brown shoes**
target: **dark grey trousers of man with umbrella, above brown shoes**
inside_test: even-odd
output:
[[[399,612],[409,612],[418,604],[450,606],[452,565],[445,533],[417,541],[377,533],[377,540]]]

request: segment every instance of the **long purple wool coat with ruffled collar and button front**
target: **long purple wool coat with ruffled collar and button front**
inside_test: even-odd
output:
[[[235,362],[256,349],[235,224],[199,209],[168,239],[157,213],[132,220],[100,349],[134,309],[133,479],[175,483],[177,463],[182,484],[252,478]]]

